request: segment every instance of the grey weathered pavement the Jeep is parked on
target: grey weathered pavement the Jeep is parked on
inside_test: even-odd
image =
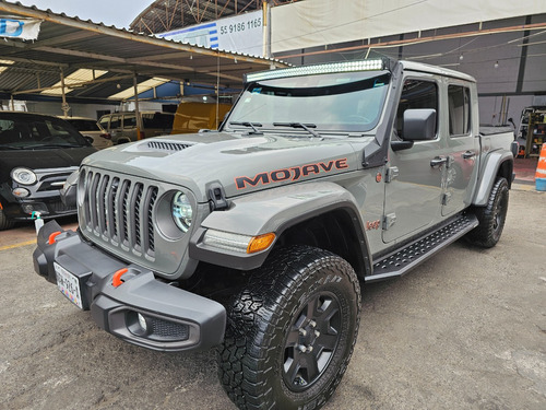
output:
[[[546,408],[546,194],[510,196],[495,248],[458,242],[366,288],[325,409]],[[0,245],[1,409],[235,409],[214,351],[150,352],[105,333],[34,273],[34,247],[16,237]]]

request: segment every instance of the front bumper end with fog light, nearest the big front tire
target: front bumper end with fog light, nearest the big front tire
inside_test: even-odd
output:
[[[205,350],[222,343],[226,309],[145,272],[117,288],[106,285],[91,314],[107,332],[157,351]]]

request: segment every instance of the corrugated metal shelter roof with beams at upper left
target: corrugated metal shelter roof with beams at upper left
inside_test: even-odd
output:
[[[70,93],[81,98],[106,98],[132,86],[135,73],[139,82],[158,77],[234,86],[241,84],[246,72],[287,66],[276,59],[190,46],[19,2],[0,0],[1,15],[43,20],[35,42],[0,40],[2,60],[13,61],[0,61],[4,68],[0,93],[15,96],[55,86],[61,70],[64,77],[80,69],[107,71]]]

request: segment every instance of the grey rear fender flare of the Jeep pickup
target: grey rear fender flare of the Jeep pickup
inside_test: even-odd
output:
[[[495,185],[499,169],[507,162],[510,162],[509,175],[507,177],[509,186],[512,184],[511,174],[513,171],[513,155],[510,151],[494,151],[484,160],[480,166],[480,173],[477,180],[477,187],[474,191],[473,206],[484,207],[487,204],[489,194]]]

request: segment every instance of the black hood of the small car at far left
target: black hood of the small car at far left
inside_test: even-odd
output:
[[[97,150],[92,147],[58,148],[48,150],[0,151],[0,173],[2,180],[10,177],[13,168],[24,166],[31,169],[63,168],[80,166],[83,159]]]

